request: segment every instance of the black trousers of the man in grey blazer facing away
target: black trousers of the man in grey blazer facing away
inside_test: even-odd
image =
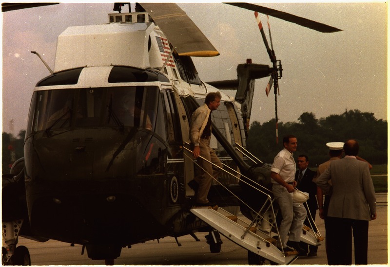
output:
[[[369,221],[328,216],[326,231],[329,265],[352,264],[352,233],[355,264],[367,265]]]

